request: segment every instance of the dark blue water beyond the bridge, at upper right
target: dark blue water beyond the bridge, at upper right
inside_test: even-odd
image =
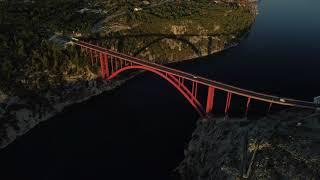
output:
[[[179,66],[239,87],[311,100],[320,95],[320,2],[266,0],[233,49]]]

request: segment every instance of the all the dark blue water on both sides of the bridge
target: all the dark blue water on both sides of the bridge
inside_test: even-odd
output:
[[[175,67],[243,88],[320,95],[320,1],[266,0],[236,47]],[[235,105],[234,105],[235,106]],[[67,108],[0,153],[2,179],[174,179],[198,115],[150,73]]]

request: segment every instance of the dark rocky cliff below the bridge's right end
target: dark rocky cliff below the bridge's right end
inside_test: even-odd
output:
[[[220,122],[218,122],[220,121]],[[286,110],[262,119],[199,121],[182,179],[317,179],[320,114]]]

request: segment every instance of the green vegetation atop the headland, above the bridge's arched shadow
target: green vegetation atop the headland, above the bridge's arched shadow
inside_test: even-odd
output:
[[[132,5],[131,9],[134,7]],[[185,21],[195,21],[208,29],[212,28],[209,25],[219,24],[221,28],[214,35],[231,34],[247,30],[255,19],[255,14],[251,12],[250,7],[237,7],[228,4],[217,5],[209,0],[169,1],[152,8],[145,7],[138,12],[133,12],[127,6],[120,9],[126,11],[126,14],[108,21],[108,25],[122,23],[135,27],[130,32],[126,32],[131,34],[139,32],[159,33],[163,31],[166,25],[179,25],[185,23]]]

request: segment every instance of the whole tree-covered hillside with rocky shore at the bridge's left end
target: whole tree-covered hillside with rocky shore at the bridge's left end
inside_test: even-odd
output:
[[[202,1],[0,1],[0,148],[65,106],[110,90],[99,67],[73,46],[75,36],[168,63],[204,56],[240,41],[255,6]]]

